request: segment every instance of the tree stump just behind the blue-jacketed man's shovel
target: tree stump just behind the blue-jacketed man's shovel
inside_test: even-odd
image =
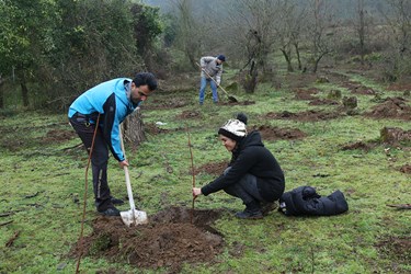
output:
[[[123,136],[124,140],[132,142],[133,146],[138,146],[141,141],[147,140],[140,107],[137,107],[137,110],[123,122]]]

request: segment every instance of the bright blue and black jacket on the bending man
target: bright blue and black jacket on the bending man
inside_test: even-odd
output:
[[[132,79],[117,78],[95,85],[85,91],[70,105],[68,116],[76,113],[89,117],[90,123],[95,123],[99,113],[100,127],[110,150],[117,161],[124,161],[121,147],[118,125],[133,113],[137,104],[129,99]]]

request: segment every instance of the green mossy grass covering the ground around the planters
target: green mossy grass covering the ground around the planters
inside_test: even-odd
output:
[[[378,89],[383,96],[401,95],[386,92],[384,85],[365,77],[350,73],[349,77]],[[331,89],[341,89],[343,95],[350,95],[336,82],[307,84],[322,91],[316,95],[319,98],[324,98]],[[411,272],[410,250],[404,249],[410,247],[410,212],[386,206],[410,203],[410,175],[399,171],[410,163],[410,147],[379,145],[367,152],[341,149],[359,140],[378,140],[384,126],[410,130],[411,123],[362,115],[319,122],[267,119],[264,115],[269,112],[336,107],[310,106],[307,101],[295,101],[286,82],[283,87],[274,89],[261,84],[254,95],[233,93],[240,101],[252,100],[255,104],[231,106],[213,105],[208,96],[199,107],[196,88],[191,92],[158,92],[150,99],[156,100],[152,105],[175,100],[187,104],[144,110],[145,123],[167,123],[159,127],[169,132],[148,134],[148,141],[136,150],[128,146],[136,203],[149,215],[171,205],[191,206],[191,160],[185,128],[191,133],[196,167],[227,161],[229,155],[217,140],[216,132],[241,111],[249,115],[249,126],[293,127],[305,132],[308,136],[301,140],[265,141],[285,172],[286,191],[311,185],[328,195],[341,190],[347,198],[349,213],[297,218],[275,212],[263,220],[238,220],[230,212],[242,209],[239,201],[224,193],[202,196],[197,198],[196,208],[224,210],[214,227],[225,237],[225,251],[213,263],[184,265],[182,272]],[[359,113],[377,104],[369,95],[357,98]],[[198,112],[199,116],[181,118],[184,111]],[[0,119],[0,214],[3,214],[0,224],[12,221],[0,227],[0,273],[73,273],[76,260],[67,254],[80,232],[87,158],[83,150],[67,148],[78,145],[79,139],[70,135],[72,130],[66,115],[4,112]],[[113,159],[109,172],[113,194],[125,197],[124,173]],[[213,175],[201,173],[196,184],[201,186],[210,180]],[[89,224],[95,217],[91,190],[89,193],[85,233],[91,232]],[[121,209],[126,210],[127,206]],[[4,216],[5,213],[10,215]],[[81,270],[83,273],[167,272],[137,270],[103,258],[83,258]]]

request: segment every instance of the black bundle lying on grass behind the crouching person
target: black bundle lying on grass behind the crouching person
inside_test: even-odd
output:
[[[349,210],[349,204],[341,191],[321,196],[311,186],[299,186],[285,192],[279,198],[279,210],[290,216],[331,216]]]

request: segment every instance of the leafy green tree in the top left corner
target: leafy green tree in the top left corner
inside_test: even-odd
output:
[[[28,106],[27,82],[34,78],[43,48],[54,25],[53,0],[0,1],[0,73],[15,71],[24,106]]]

